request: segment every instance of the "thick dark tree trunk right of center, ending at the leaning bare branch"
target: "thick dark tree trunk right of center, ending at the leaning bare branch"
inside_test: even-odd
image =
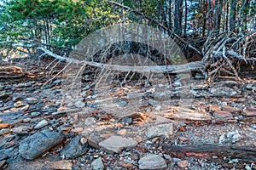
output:
[[[175,0],[175,11],[174,11],[174,32],[177,35],[182,34],[182,17],[183,17],[183,1]]]

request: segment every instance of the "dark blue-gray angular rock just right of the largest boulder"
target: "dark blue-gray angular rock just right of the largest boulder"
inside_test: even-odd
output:
[[[61,150],[61,156],[65,156],[67,159],[77,158],[82,156],[87,150],[89,150],[88,144],[82,144],[80,139],[82,136],[76,136],[71,139],[69,144]]]

